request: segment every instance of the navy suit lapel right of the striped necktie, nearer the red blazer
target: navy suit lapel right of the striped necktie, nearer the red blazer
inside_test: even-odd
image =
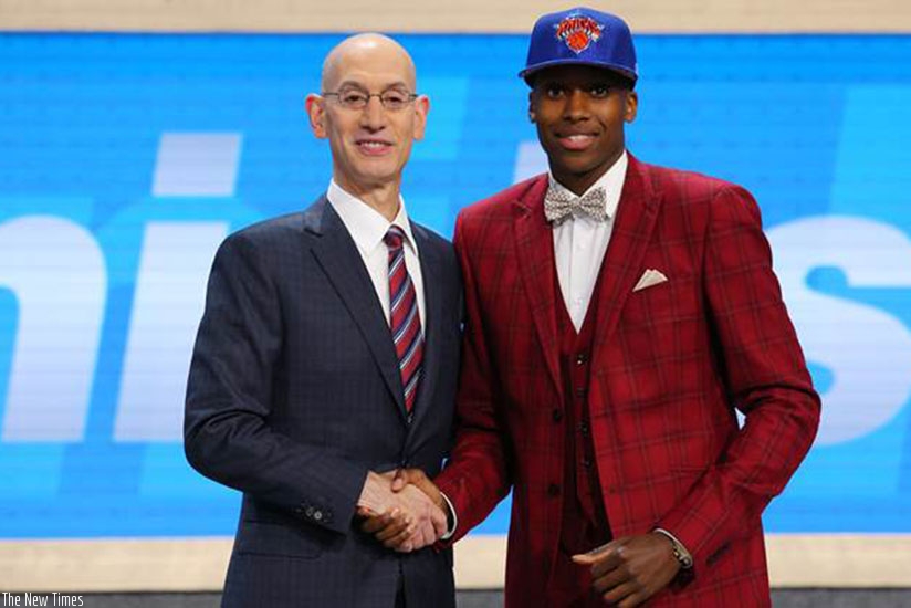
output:
[[[421,419],[433,407],[433,391],[437,376],[440,374],[440,323],[442,323],[443,281],[442,262],[438,251],[430,245],[430,239],[423,228],[411,222],[418,255],[423,276],[423,371],[415,401],[415,419],[411,431],[418,428]]]

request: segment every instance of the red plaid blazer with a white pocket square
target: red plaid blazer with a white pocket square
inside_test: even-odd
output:
[[[467,321],[457,440],[438,478],[458,535],[513,490],[506,606],[549,606],[564,420],[563,306],[538,176],[460,214]],[[650,606],[768,606],[761,514],[819,420],[758,208],[744,189],[630,157],[604,260],[589,408],[615,537],[656,527],[693,576]],[[647,269],[668,281],[633,292]],[[735,408],[746,416],[739,429]]]

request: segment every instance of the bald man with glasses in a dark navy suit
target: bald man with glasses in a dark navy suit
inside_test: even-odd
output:
[[[322,88],[306,109],[328,191],[222,243],[190,368],[187,458],[243,493],[222,606],[452,607],[451,551],[427,546],[446,516],[388,473],[436,475],[451,441],[458,263],[399,192],[428,99],[378,34],[336,46]],[[360,532],[365,514],[412,553]]]

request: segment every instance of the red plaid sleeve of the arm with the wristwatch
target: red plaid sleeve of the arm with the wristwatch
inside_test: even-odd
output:
[[[727,399],[746,421],[658,523],[692,553],[695,573],[758,523],[809,450],[820,408],[772,271],[758,207],[745,190],[727,187],[710,213],[703,291],[714,359]]]

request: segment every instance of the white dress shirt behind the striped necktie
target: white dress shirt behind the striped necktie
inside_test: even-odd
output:
[[[329,205],[332,205],[335,212],[338,213],[338,217],[342,218],[342,223],[348,229],[348,234],[352,235],[352,239],[357,245],[357,251],[360,253],[364,265],[367,268],[367,273],[370,275],[370,281],[374,283],[376,296],[383,306],[383,313],[387,324],[391,323],[389,318],[389,249],[386,247],[383,238],[392,224],[398,226],[402,232],[405,232],[405,242],[402,243],[402,249],[405,250],[405,268],[408,269],[408,274],[411,275],[411,283],[415,284],[415,295],[418,297],[418,315],[421,319],[421,331],[426,335],[423,275],[421,275],[418,248],[415,244],[415,237],[411,234],[411,222],[408,221],[408,212],[405,210],[405,201],[401,199],[401,196],[399,196],[398,213],[391,222],[366,202],[343,190],[334,179],[329,181],[326,198],[329,199]]]

